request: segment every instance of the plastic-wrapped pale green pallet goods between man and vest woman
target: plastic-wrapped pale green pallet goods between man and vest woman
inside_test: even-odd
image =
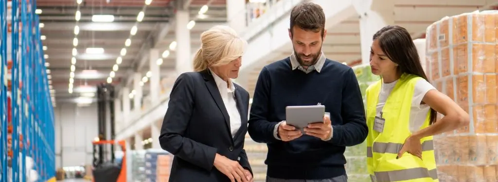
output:
[[[353,67],[355,71],[360,90],[362,91],[363,100],[365,103],[365,91],[367,88],[378,81],[380,77],[373,75],[370,65],[358,65]],[[349,181],[351,182],[370,182],[370,176],[367,171],[367,143],[363,142],[360,145],[346,147],[344,152],[346,157],[346,172]]]

